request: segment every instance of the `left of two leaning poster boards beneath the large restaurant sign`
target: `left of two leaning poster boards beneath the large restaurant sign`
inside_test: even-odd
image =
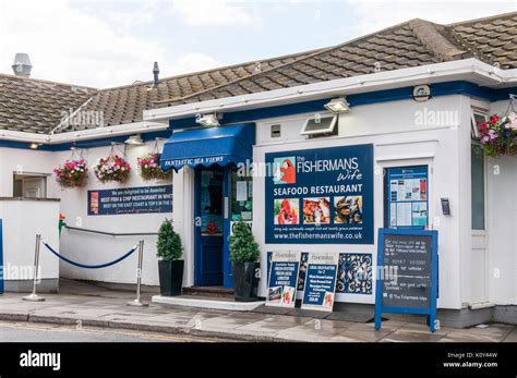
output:
[[[299,268],[299,252],[273,252],[267,282],[266,306],[294,307]]]

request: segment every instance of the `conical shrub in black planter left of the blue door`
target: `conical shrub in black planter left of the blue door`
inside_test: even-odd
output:
[[[180,235],[175,232],[172,222],[166,219],[158,230],[156,242],[158,260],[159,286],[161,295],[181,295],[183,283],[183,246]]]

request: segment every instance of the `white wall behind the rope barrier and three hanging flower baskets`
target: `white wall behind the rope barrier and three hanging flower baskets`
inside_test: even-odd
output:
[[[140,214],[140,215],[115,215],[115,216],[88,216],[87,215],[87,191],[107,190],[135,186],[153,186],[171,184],[171,181],[149,181],[145,182],[137,173],[137,158],[151,153],[153,143],[143,146],[127,148],[127,158],[133,169],[130,179],[124,183],[100,183],[93,173],[89,172],[86,187],[61,190],[52,181],[56,191],[61,197],[61,212],[67,217],[69,225],[76,225],[86,229],[101,230],[112,233],[132,232],[157,232],[160,223],[167,217],[172,218],[172,214]],[[83,157],[88,161],[88,167],[95,164],[98,158],[107,157],[111,147],[98,147],[83,150]],[[123,149],[123,146],[120,146]],[[161,148],[161,145],[160,145]],[[70,151],[56,153],[58,162],[62,162],[70,157]],[[176,191],[175,191],[176,194]],[[181,198],[178,198],[181,203]],[[175,198],[175,204],[178,200]],[[88,265],[103,264],[116,259],[133,247],[140,239],[144,240],[144,258],[142,269],[142,283],[157,285],[158,263],[156,257],[156,236],[107,236],[92,233],[84,233],[72,230],[63,230],[60,241],[60,252],[76,261]],[[134,253],[125,260],[103,269],[84,269],[61,263],[61,277],[81,280],[93,280],[116,283],[136,282],[137,254]]]

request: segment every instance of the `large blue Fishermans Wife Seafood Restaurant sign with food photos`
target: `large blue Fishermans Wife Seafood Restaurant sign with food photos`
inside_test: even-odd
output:
[[[373,145],[265,155],[266,243],[373,244]]]

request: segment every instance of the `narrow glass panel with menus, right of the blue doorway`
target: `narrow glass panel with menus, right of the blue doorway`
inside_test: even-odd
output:
[[[253,218],[253,178],[241,176],[231,170],[231,220],[251,221]]]

